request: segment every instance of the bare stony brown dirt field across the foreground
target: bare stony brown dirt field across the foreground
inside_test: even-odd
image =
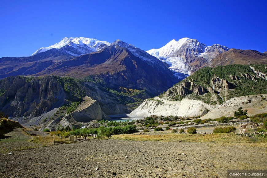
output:
[[[0,177],[226,177],[267,167],[266,148],[238,144],[95,139],[12,153],[0,154]]]

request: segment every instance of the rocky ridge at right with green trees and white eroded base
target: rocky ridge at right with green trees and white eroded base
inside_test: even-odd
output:
[[[267,93],[266,73],[266,65],[256,64],[203,68],[159,97],[146,99],[131,114],[201,116],[207,114],[206,111],[221,107],[231,98]],[[267,109],[265,99],[262,101],[261,97],[257,99],[260,100],[258,102],[265,111]],[[183,112],[180,108],[183,108]]]

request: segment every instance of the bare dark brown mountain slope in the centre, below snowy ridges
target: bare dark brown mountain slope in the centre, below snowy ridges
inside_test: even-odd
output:
[[[167,90],[177,79],[161,61],[153,65],[136,57],[127,48],[109,46],[98,52],[56,62],[34,75],[59,75],[83,78],[100,75],[110,87],[146,90],[155,96]]]

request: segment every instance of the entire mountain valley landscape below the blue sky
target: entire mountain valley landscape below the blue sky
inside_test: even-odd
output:
[[[226,177],[267,166],[266,53],[189,38],[148,51],[63,38],[0,58],[0,78],[1,177]]]

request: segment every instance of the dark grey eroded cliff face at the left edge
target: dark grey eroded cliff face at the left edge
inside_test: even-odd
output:
[[[0,83],[0,110],[9,117],[36,117],[64,103],[64,89],[51,76],[8,77]]]

